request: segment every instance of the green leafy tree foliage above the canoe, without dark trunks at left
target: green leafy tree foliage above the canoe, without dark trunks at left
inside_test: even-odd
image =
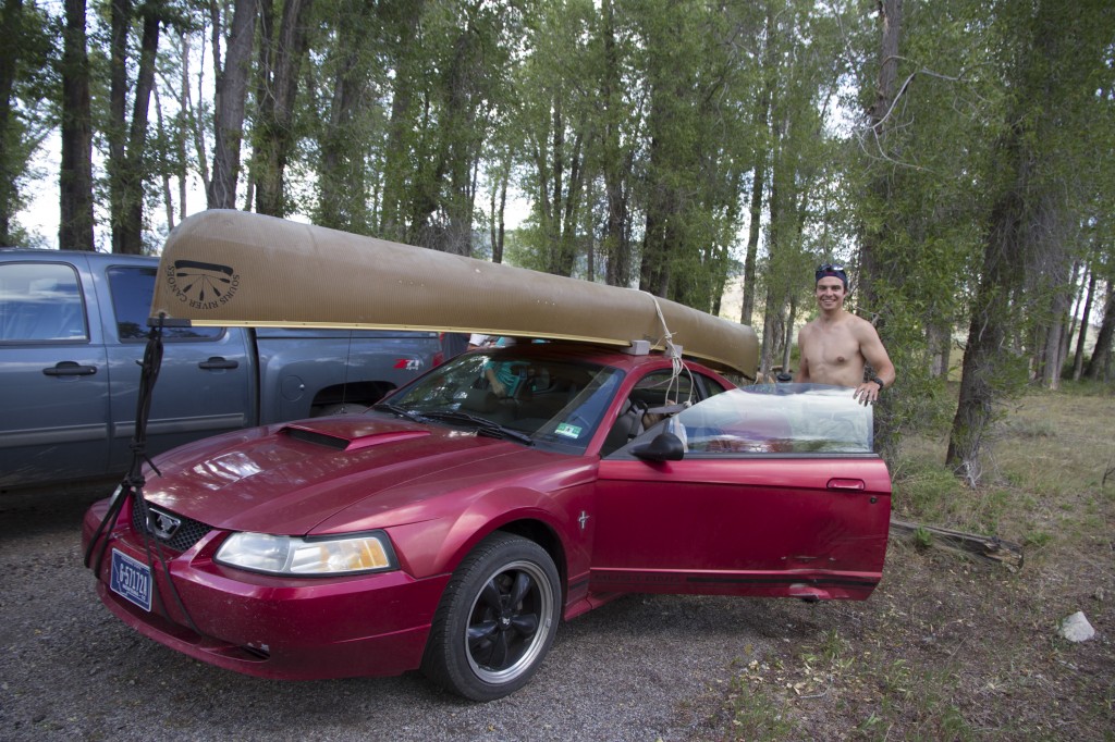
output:
[[[210,45],[207,9],[164,10],[195,53]],[[47,12],[25,3],[14,45],[20,107],[0,178],[14,206],[59,106]],[[487,196],[507,182],[531,208],[508,261],[709,311],[736,282],[750,186],[763,180],[748,290],[764,358],[780,362],[789,323],[812,311],[812,265],[851,265],[850,306],[876,321],[899,371],[879,416],[893,448],[952,416],[948,382],[975,311],[973,338],[985,320],[1001,330],[988,353],[968,353],[989,414],[959,420],[954,436],[978,443],[1040,368],[1072,262],[1087,257],[1102,287],[1115,280],[1115,20],[1104,0],[934,0],[903,13],[896,100],[875,133],[863,113],[881,31],[863,3],[316,0],[292,118],[264,120],[265,86],[250,90],[255,180],[281,139],[287,211],[484,255],[498,208]],[[124,136],[107,113],[106,42],[90,36],[98,146]],[[176,110],[182,69],[164,32],[164,116],[132,165],[151,186],[195,177],[212,155],[212,101]],[[191,71],[196,97],[210,79]],[[146,194],[155,213],[162,194]],[[1011,218],[997,222],[1007,205]],[[997,224],[1031,226],[999,245]],[[1022,270],[992,270],[999,246]]]

